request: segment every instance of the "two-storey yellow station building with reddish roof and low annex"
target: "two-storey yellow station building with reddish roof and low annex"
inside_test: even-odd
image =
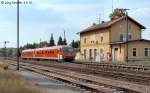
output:
[[[82,59],[97,62],[150,60],[150,40],[142,39],[142,24],[123,16],[79,32]]]

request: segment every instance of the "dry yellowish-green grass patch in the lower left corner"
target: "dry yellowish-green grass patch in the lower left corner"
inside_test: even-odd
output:
[[[41,93],[32,84],[9,71],[0,70],[0,93]]]

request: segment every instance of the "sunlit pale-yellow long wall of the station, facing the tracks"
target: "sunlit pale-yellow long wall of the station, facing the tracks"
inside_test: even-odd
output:
[[[107,55],[110,52],[108,29],[82,33],[80,35],[80,41],[81,55],[83,56],[82,58],[84,58],[84,51],[86,50],[86,59],[89,60],[91,49],[93,61],[108,60]],[[103,49],[103,54],[100,53],[101,49]],[[96,55],[94,55],[95,50]]]

